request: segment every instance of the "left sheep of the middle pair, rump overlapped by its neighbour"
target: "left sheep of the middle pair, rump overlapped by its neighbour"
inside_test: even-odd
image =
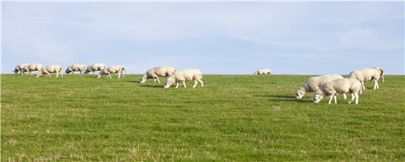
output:
[[[159,80],[159,77],[168,77],[172,75],[175,72],[175,68],[170,67],[170,66],[160,66],[160,67],[155,67],[151,68],[148,71],[146,71],[145,75],[141,77],[139,82],[145,83],[146,80],[153,78],[154,81],[158,81],[158,83],[161,83]]]

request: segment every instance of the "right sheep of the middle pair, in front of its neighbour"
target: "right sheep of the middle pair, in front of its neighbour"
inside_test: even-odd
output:
[[[197,86],[198,82],[201,83],[201,87],[204,87],[204,83],[202,82],[202,73],[198,69],[184,69],[184,70],[177,70],[173,73],[173,75],[170,75],[164,84],[164,88],[171,87],[173,83],[176,83],[177,85],[175,88],[178,88],[179,82],[183,82],[183,86],[185,86],[185,81],[186,80],[194,80],[194,85]]]

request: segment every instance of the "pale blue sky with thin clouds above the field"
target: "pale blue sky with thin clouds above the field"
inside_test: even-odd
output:
[[[1,2],[1,73],[21,63],[203,74],[404,75],[404,1]]]

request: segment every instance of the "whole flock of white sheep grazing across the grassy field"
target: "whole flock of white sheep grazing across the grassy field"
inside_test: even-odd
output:
[[[58,77],[59,74],[63,76],[62,67],[60,65],[48,65],[43,68],[40,63],[21,64],[16,65],[13,70],[14,73],[21,75],[28,75],[33,71],[38,71],[36,77],[41,77],[41,75],[48,75],[51,77],[51,73],[56,73],[56,77]],[[102,63],[95,63],[87,66],[87,68],[82,64],[74,64],[69,65],[68,68],[66,68],[65,73],[80,72],[80,74],[82,74],[82,72],[84,72],[85,74],[88,74],[90,72],[95,73],[96,71],[99,71],[97,78],[102,77],[102,75],[107,75],[107,77],[111,79],[112,74],[118,74],[119,79],[121,75],[124,77],[125,68],[122,65],[111,65],[107,67]],[[254,72],[253,75],[271,74],[273,74],[273,72],[270,69],[260,69]],[[198,82],[200,82],[201,87],[204,87],[200,70],[175,70],[175,68],[170,66],[161,66],[147,70],[139,82],[145,83],[146,80],[153,79],[155,82],[157,81],[160,83],[161,81],[159,80],[159,77],[167,77],[164,82],[164,88],[171,87],[174,83],[176,83],[175,88],[178,88],[180,82],[183,82],[183,87],[187,87],[185,85],[185,81],[187,80],[194,80],[193,88],[198,85]],[[314,92],[313,102],[318,103],[323,97],[329,96],[330,99],[328,104],[330,104],[332,99],[335,99],[335,103],[338,103],[338,94],[343,94],[344,99],[346,99],[347,97],[345,93],[350,93],[351,99],[349,103],[352,103],[353,100],[355,100],[355,103],[358,104],[359,93],[362,94],[362,90],[365,90],[365,81],[373,81],[374,90],[376,90],[379,88],[378,80],[380,77],[382,77],[382,82],[384,82],[384,70],[379,67],[353,70],[350,72],[348,78],[343,78],[342,75],[320,75],[317,77],[310,77],[303,83],[303,85],[301,85],[301,87],[298,87],[298,90],[296,90],[296,98],[301,99],[306,92]]]

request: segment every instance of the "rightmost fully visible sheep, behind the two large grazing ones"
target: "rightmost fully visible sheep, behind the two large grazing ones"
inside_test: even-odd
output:
[[[349,78],[357,79],[362,84],[363,90],[366,89],[365,81],[372,80],[374,82],[373,90],[379,89],[378,80],[381,75],[379,70],[374,68],[362,68],[359,70],[353,70],[349,74]],[[361,94],[361,93],[360,93]]]

